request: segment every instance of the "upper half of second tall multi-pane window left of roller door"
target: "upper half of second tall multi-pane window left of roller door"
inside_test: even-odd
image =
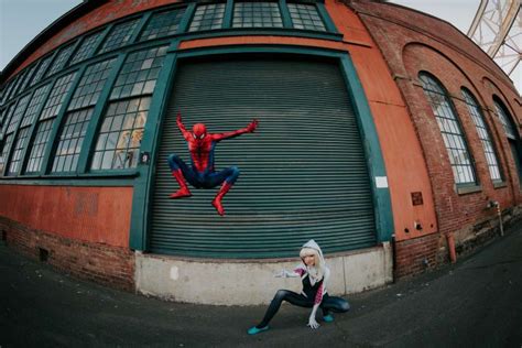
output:
[[[95,105],[109,77],[116,58],[89,65],[76,87],[67,110],[75,110]]]

